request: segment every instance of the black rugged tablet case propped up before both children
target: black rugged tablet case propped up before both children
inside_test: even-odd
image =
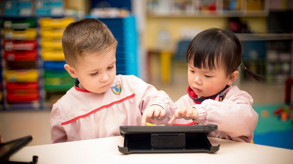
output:
[[[124,137],[121,153],[214,153],[220,145],[212,146],[207,138],[217,125],[180,126],[120,126]]]

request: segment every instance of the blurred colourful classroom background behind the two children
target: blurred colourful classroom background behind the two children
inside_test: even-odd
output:
[[[64,28],[82,18],[103,21],[118,41],[117,74],[134,74],[173,101],[187,94],[188,44],[202,30],[232,30],[242,42],[234,85],[254,99],[254,144],[293,149],[292,0],[1,0],[0,132],[50,142],[54,104],[74,85],[65,71]]]

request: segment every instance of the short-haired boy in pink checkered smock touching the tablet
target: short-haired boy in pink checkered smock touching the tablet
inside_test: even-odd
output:
[[[113,34],[97,19],[66,27],[64,68],[76,81],[53,105],[51,143],[118,136],[120,125],[170,120],[176,105],[165,92],[136,76],[116,75],[116,46]]]

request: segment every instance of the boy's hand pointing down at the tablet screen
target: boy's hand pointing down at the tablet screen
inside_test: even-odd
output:
[[[162,118],[166,114],[166,111],[160,105],[151,105],[144,110],[142,114],[142,126],[145,126],[146,123],[154,123],[154,118]]]

